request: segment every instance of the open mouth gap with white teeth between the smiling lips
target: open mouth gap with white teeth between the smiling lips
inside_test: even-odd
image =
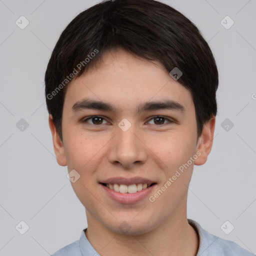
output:
[[[144,190],[150,186],[153,186],[154,184],[156,184],[156,182],[153,183],[137,183],[137,184],[130,184],[130,185],[126,185],[126,184],[117,184],[117,183],[102,183],[100,182],[100,184],[102,184],[103,186],[106,186],[107,188],[109,188],[110,190],[113,190],[115,192],[119,192],[119,193],[136,193],[139,192],[141,190]]]

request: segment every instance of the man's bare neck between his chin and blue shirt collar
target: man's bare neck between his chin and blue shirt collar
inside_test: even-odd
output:
[[[101,256],[195,256],[199,239],[194,228],[188,224],[186,211],[169,218],[151,231],[127,235],[119,234],[102,225],[86,211],[88,228],[86,237]]]

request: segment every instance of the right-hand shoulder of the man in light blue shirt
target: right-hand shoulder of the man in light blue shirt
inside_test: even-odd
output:
[[[243,249],[237,243],[222,239],[218,236],[208,233],[197,222],[188,219],[199,234],[199,250],[197,255],[200,256],[255,256],[253,253]]]

